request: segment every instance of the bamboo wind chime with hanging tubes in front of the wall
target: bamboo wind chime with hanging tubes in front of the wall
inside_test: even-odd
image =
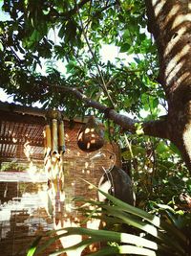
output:
[[[63,201],[65,198],[63,172],[64,122],[59,114],[55,115],[56,113],[53,111],[50,113],[48,121],[51,123],[45,127],[45,170],[52,183],[54,221],[56,225],[60,221],[63,226]]]

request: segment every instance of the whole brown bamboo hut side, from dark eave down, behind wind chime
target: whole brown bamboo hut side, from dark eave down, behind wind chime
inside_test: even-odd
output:
[[[64,118],[64,179],[53,204],[57,192],[53,195],[53,184],[44,169],[45,114],[37,107],[0,103],[0,255],[26,255],[38,234],[78,225],[81,215],[73,198],[97,198],[96,190],[81,178],[97,185],[103,170],[120,165],[116,144],[105,143],[94,152],[81,151],[76,139],[86,120]],[[62,241],[49,250],[64,243],[69,245]]]

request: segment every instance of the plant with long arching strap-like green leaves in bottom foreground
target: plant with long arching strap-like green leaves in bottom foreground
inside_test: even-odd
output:
[[[128,231],[95,230],[82,227],[63,228],[59,230],[62,231],[59,235],[56,234],[58,230],[48,232],[46,235],[49,239],[43,244],[39,245],[43,236],[36,238],[27,256],[37,255],[58,239],[71,235],[81,235],[84,239],[78,244],[61,248],[50,255],[60,255],[72,250],[82,252],[86,247],[95,243],[103,243],[104,245],[100,246],[96,252],[90,252],[87,255],[191,255],[190,238],[180,230],[177,221],[170,221],[167,218],[163,220],[162,216],[147,213],[103,191],[99,190],[99,192],[108,198],[111,204],[83,200],[86,203],[89,202],[95,208],[93,211],[85,209],[89,215],[88,218],[99,219],[109,225],[121,225],[123,230],[125,230],[125,227],[128,230],[128,226],[132,226],[135,230],[133,234],[128,234]]]

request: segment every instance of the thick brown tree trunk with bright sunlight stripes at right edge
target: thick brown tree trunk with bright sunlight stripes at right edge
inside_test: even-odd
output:
[[[159,83],[168,102],[168,137],[191,171],[191,2],[145,2],[148,29],[159,51]]]

